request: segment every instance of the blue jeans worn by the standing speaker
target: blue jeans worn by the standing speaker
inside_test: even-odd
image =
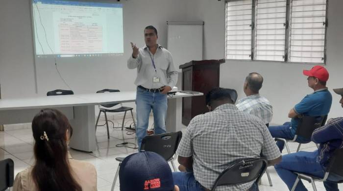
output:
[[[149,115],[152,109],[154,116],[154,134],[166,133],[167,95],[148,92],[137,87],[137,143],[140,150],[143,138],[147,135]]]

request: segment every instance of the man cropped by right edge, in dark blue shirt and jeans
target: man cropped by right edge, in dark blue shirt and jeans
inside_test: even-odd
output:
[[[343,88],[334,89],[336,94],[342,96],[340,104],[343,107]],[[302,172],[317,177],[323,177],[327,165],[336,149],[343,147],[343,118],[329,119],[326,125],[316,129],[311,140],[320,144],[319,149],[313,152],[299,151],[282,156],[281,163],[275,165],[275,170],[280,178],[291,190],[297,175],[293,172]],[[324,182],[326,191],[339,191],[337,182],[343,177],[333,172],[329,173]],[[295,191],[307,191],[301,180],[297,184]]]

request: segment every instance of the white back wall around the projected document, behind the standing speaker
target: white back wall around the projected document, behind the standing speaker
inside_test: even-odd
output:
[[[158,30],[158,42],[167,47],[166,22],[182,21],[186,14],[183,0],[122,0],[121,3],[124,8],[123,56],[80,58],[76,63],[57,59],[61,75],[75,94],[93,93],[104,88],[135,91],[136,70],[129,70],[126,66],[132,53],[130,42],[143,46],[144,27],[151,24]],[[1,0],[0,18],[2,98],[37,96],[30,0]],[[59,78],[53,59],[37,62],[36,72],[38,95],[45,95],[49,90],[68,89]]]

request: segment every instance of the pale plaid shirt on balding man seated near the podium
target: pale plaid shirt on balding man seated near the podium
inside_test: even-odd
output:
[[[239,110],[254,115],[267,124],[273,117],[273,107],[266,97],[259,94],[244,97],[236,103]]]

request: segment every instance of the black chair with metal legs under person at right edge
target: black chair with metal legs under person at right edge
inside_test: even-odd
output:
[[[294,185],[292,187],[292,191],[295,190],[296,185],[299,183],[300,179],[304,179],[304,180],[309,181],[312,184],[313,190],[317,191],[315,181],[320,181],[320,182],[327,181],[327,178],[328,178],[330,173],[335,173],[335,174],[343,177],[343,148],[336,149],[334,151],[334,154],[333,154],[332,158],[330,159],[328,166],[325,169],[324,177],[322,177],[322,178],[316,177],[312,174],[305,174],[305,173],[300,173],[300,172],[296,172],[296,171],[293,171],[293,172],[296,173],[298,176],[295,179]],[[332,182],[332,181],[330,181],[330,182]],[[337,184],[343,183],[343,180],[338,181],[338,182],[333,182],[333,183],[337,183]]]

